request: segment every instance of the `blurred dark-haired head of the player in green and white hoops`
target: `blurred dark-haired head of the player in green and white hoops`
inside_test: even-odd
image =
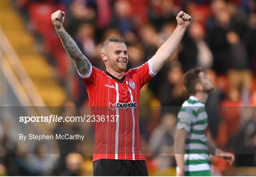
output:
[[[190,95],[197,92],[210,93],[214,86],[201,68],[193,68],[183,76],[183,84]]]

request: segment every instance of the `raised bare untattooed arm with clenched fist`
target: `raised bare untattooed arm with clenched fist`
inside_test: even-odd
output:
[[[174,33],[156,51],[155,55],[151,59],[154,73],[157,73],[164,66],[169,57],[174,54],[174,51],[176,51],[182,40],[183,34],[191,24],[192,17],[183,11],[180,11],[176,17],[176,20],[178,25],[174,30]]]

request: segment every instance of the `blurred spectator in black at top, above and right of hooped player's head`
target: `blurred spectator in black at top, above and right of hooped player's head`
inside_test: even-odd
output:
[[[227,33],[233,21],[224,0],[213,0],[211,11],[212,16],[206,22],[206,41],[214,57],[213,70],[222,74],[228,70],[231,61]]]

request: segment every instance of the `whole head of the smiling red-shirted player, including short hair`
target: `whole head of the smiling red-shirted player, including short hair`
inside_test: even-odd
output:
[[[106,39],[101,46],[101,58],[106,69],[124,72],[128,63],[128,51],[124,39],[118,37]]]

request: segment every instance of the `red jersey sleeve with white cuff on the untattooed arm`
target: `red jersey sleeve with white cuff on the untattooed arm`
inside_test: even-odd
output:
[[[156,75],[156,73],[153,72],[151,59],[140,67],[133,68],[132,70],[137,73],[140,88]]]

